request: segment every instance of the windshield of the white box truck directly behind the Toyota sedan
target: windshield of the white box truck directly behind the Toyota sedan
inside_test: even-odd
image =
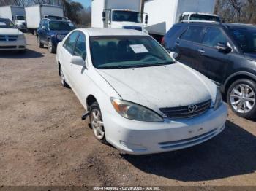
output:
[[[113,21],[127,21],[141,23],[141,17],[139,12],[132,11],[113,11],[112,20]]]

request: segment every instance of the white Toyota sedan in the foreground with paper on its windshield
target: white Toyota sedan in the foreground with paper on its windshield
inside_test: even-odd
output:
[[[56,59],[96,139],[122,152],[184,149],[225,129],[217,86],[140,31],[77,29],[58,44]]]

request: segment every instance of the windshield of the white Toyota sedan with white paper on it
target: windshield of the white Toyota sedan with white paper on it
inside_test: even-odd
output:
[[[150,36],[92,36],[91,59],[97,69],[125,69],[174,63]]]

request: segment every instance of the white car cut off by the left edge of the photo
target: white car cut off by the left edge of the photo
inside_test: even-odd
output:
[[[0,17],[0,50],[26,51],[24,34],[7,18]]]

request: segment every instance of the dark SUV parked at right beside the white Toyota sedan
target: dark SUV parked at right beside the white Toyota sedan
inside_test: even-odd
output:
[[[256,27],[227,23],[177,23],[162,45],[177,61],[219,85],[241,117],[256,117]]]

